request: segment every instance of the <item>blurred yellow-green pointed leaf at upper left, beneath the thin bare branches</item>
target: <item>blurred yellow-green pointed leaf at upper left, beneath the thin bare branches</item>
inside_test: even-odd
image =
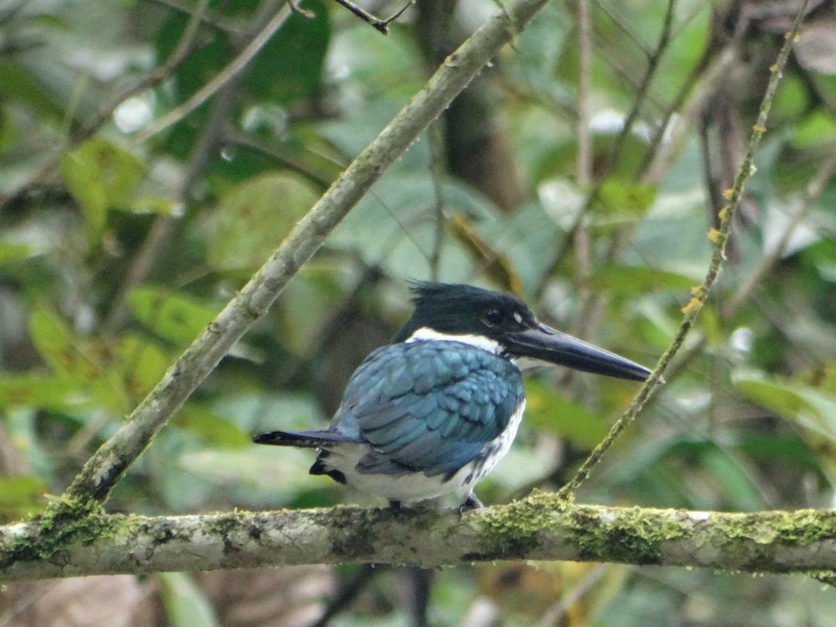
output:
[[[98,235],[104,229],[109,208],[129,205],[145,166],[124,148],[91,137],[75,150],[61,154],[59,170],[90,230]]]

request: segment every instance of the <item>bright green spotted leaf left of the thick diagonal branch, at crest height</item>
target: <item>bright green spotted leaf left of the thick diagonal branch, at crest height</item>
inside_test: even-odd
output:
[[[196,298],[151,286],[135,288],[127,302],[136,319],[179,346],[191,344],[218,312]]]

